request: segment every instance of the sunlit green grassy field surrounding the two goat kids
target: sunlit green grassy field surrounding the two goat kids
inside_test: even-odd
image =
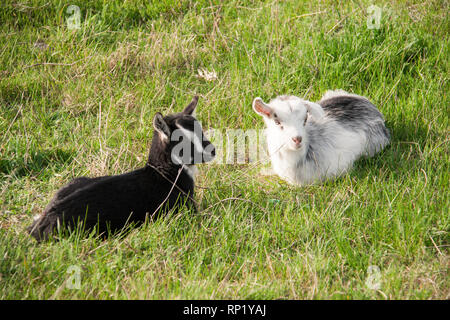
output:
[[[448,1],[0,9],[0,299],[450,298]],[[254,97],[334,88],[370,97],[392,134],[335,181],[293,187],[259,163],[205,164],[197,215],[109,240],[25,233],[69,180],[143,166],[157,111],[198,94],[206,129],[261,129]]]

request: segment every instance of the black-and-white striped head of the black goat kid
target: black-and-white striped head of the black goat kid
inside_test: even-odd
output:
[[[153,118],[153,127],[175,164],[203,163],[215,157],[214,145],[205,137],[194,116],[197,102],[196,96],[182,112],[165,117],[158,112]]]

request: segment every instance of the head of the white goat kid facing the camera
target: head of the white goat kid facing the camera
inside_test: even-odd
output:
[[[255,98],[253,110],[266,123],[268,143],[280,151],[306,152],[309,142],[306,126],[311,119],[318,120],[324,115],[318,104],[295,96],[280,96],[269,104]]]

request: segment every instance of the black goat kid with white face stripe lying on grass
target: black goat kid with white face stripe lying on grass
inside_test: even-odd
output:
[[[193,116],[198,97],[183,112],[153,119],[155,133],[147,164],[138,170],[97,178],[77,178],[58,190],[29,233],[46,240],[59,227],[98,228],[114,233],[127,224],[139,225],[183,204],[195,208],[194,165],[215,156],[201,125]]]

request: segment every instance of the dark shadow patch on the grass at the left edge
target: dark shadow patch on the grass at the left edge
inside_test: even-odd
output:
[[[15,177],[39,175],[45,168],[55,164],[68,163],[74,157],[73,151],[62,149],[40,150],[31,155],[15,154],[9,159],[0,159],[0,174]]]

